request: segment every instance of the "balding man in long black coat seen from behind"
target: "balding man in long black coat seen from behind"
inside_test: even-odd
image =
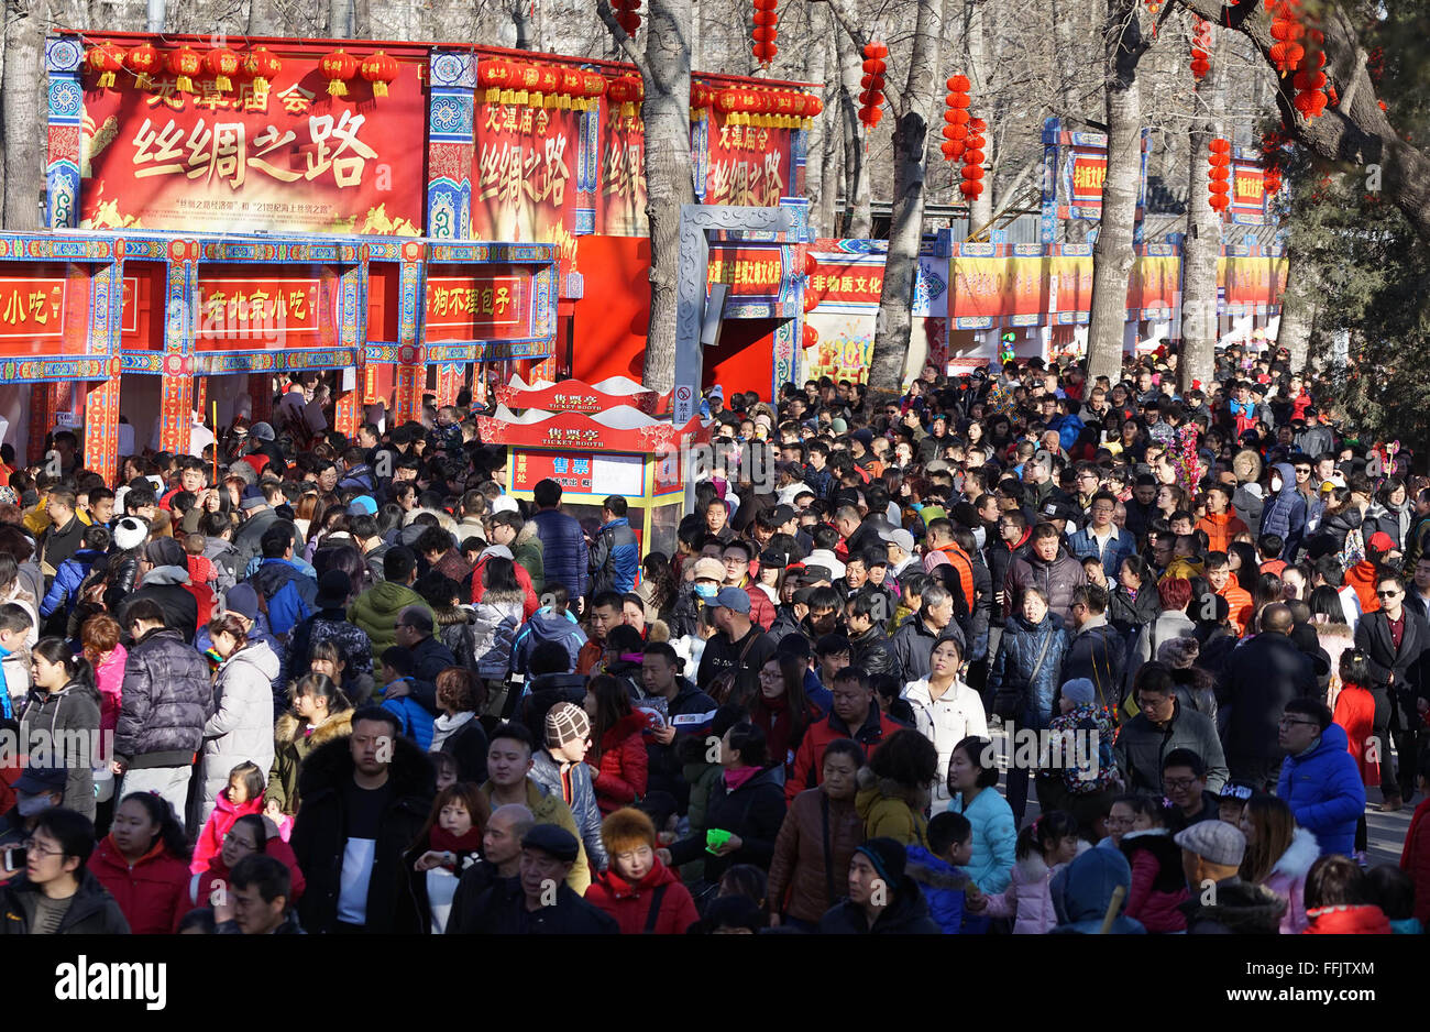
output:
[[[1316,695],[1311,658],[1291,642],[1291,610],[1274,603],[1261,610],[1261,633],[1227,659],[1227,766],[1237,780],[1271,792],[1284,755],[1277,722],[1291,699]]]

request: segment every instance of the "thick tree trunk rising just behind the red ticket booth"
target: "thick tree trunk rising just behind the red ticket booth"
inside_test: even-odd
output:
[[[645,40],[645,183],[651,219],[651,324],[644,382],[675,386],[681,206],[695,203],[691,162],[691,0],[651,0]]]

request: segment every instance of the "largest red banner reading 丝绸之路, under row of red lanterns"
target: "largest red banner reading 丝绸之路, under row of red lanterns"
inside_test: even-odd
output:
[[[267,90],[235,79],[220,93],[209,71],[193,94],[170,73],[153,90],[127,73],[94,90],[86,71],[80,226],[420,236],[420,63],[398,61],[386,97],[360,77],[330,97],[319,71],[329,47],[272,50],[282,70]]]

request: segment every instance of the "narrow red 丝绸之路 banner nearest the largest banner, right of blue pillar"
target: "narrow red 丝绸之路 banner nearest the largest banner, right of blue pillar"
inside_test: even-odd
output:
[[[472,236],[558,244],[575,253],[581,111],[478,104]]]

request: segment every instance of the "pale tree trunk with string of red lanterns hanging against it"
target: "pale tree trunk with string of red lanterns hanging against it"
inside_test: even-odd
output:
[[[1221,33],[1216,33],[1217,37]],[[1210,149],[1220,134],[1226,110],[1226,54],[1228,47],[1213,46],[1211,80],[1203,80],[1193,93],[1197,111],[1190,123],[1187,154],[1187,239],[1181,252],[1181,359],[1177,383],[1183,393],[1191,382],[1211,383],[1216,367],[1217,259],[1221,256],[1221,213],[1211,207]]]

